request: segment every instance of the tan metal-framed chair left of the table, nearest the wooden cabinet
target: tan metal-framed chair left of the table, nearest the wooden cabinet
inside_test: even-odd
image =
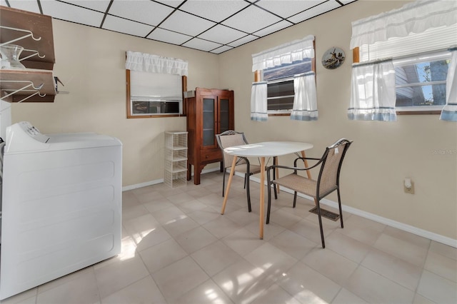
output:
[[[231,168],[231,163],[233,162],[233,156],[228,153],[224,153],[224,148],[229,148],[232,146],[246,145],[246,137],[244,137],[243,132],[237,132],[233,130],[225,131],[221,134],[216,134],[216,140],[221,148],[224,157],[222,158],[222,163],[224,166],[224,178],[222,181],[222,196],[224,196],[226,188],[226,172],[227,169]],[[249,176],[260,173],[260,166],[251,165],[248,158],[238,157],[235,166],[235,172],[244,174],[244,188],[246,188],[246,196],[248,198],[248,211],[251,212],[251,193],[249,192]]]

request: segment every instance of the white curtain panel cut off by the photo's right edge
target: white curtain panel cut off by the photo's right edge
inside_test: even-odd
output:
[[[457,49],[452,49],[451,63],[446,78],[446,106],[441,111],[443,121],[457,121]]]

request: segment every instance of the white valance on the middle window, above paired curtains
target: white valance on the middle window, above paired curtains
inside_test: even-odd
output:
[[[314,36],[309,35],[300,40],[281,44],[272,49],[252,55],[252,71],[263,70],[281,64],[291,64],[293,61],[314,58]]]

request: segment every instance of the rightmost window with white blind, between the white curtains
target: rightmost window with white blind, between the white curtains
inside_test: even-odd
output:
[[[396,75],[395,110],[398,114],[438,114],[446,105],[446,76],[451,61],[449,48],[457,45],[457,24],[432,27],[426,23],[426,19],[431,15],[428,12],[430,9],[437,10],[436,14],[441,14],[441,10],[455,11],[456,5],[446,4],[446,7],[436,8],[431,8],[430,5],[433,6],[433,3],[411,4],[411,9],[417,10],[413,16],[417,15],[417,19],[423,19],[426,31],[416,30],[418,33],[406,36],[399,34],[384,41],[366,43],[368,40],[363,37],[363,31],[378,31],[376,24],[371,28],[372,24],[376,21],[381,22],[383,18],[387,22],[390,15],[398,16],[406,9],[386,13],[382,17],[372,16],[368,21],[360,21],[358,26],[366,29],[353,27],[353,40],[362,44],[354,49],[355,62],[368,63],[379,59],[393,59]],[[441,19],[446,20],[444,17]],[[398,19],[396,20],[398,23]],[[416,23],[419,24],[418,21]],[[366,40],[362,41],[362,38]]]

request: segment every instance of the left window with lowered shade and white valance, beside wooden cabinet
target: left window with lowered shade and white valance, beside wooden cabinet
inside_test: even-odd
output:
[[[127,118],[180,116],[187,61],[127,52]]]

